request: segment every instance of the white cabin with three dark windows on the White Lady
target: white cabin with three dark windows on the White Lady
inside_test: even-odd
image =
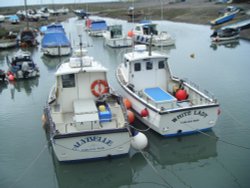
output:
[[[125,55],[123,70],[126,75],[124,78],[128,78],[126,82],[131,90],[140,91],[155,86],[167,89],[166,83],[171,77],[168,59],[161,54],[153,53],[152,55],[146,51],[145,45],[136,45],[134,52]]]

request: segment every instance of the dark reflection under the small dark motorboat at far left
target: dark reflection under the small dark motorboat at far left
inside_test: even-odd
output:
[[[29,96],[32,93],[32,89],[34,87],[38,87],[39,78],[31,78],[26,80],[18,80],[14,82],[10,82],[10,92],[11,99],[15,99],[16,92],[26,93]]]

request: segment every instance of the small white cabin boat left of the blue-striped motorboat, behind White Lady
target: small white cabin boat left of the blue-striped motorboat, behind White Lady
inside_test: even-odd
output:
[[[123,35],[122,25],[108,26],[108,30],[103,34],[105,45],[111,48],[123,48],[130,47],[133,44],[133,40]]]

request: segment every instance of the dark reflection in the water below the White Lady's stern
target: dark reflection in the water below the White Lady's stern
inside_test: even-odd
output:
[[[213,131],[206,134],[215,137]],[[151,160],[162,166],[197,162],[217,156],[217,140],[203,134],[166,139],[150,131],[147,137],[150,141],[148,152]]]

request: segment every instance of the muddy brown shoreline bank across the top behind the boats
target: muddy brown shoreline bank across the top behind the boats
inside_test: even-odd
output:
[[[31,27],[38,29],[42,25],[47,25],[53,22],[62,22],[70,17],[75,17],[73,9],[85,9],[88,12],[94,13],[93,15],[118,18],[122,20],[131,20],[128,16],[128,7],[131,2],[105,2],[105,3],[88,3],[88,4],[62,4],[62,5],[45,5],[48,8],[68,8],[70,12],[66,15],[50,16],[48,20],[41,20],[38,22],[29,22]],[[170,0],[139,0],[133,3],[135,8],[134,21],[142,19],[150,20],[168,20],[174,22],[184,22],[192,24],[209,25],[209,21],[218,17],[218,11],[229,6],[234,5],[244,10],[250,10],[250,3],[237,3],[237,4],[215,4],[207,0],[190,0],[185,2],[171,3]],[[76,7],[77,6],[77,7]],[[29,6],[28,8],[40,8],[39,5]],[[24,9],[24,7],[1,7],[1,14],[15,14],[17,10]],[[250,19],[249,15],[237,15],[235,19],[225,24],[214,27],[217,29],[224,25],[232,24],[239,20]],[[2,27],[7,30],[20,31],[26,25],[25,21],[13,25],[7,21],[1,23]],[[250,29],[241,31],[240,38],[250,40]]]

